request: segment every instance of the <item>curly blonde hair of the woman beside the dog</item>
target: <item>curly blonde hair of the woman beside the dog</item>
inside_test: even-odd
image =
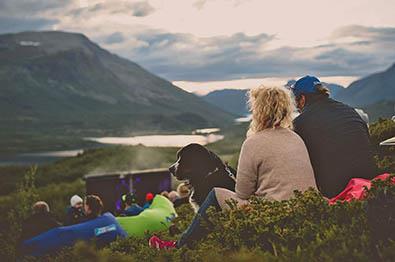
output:
[[[260,86],[248,93],[252,121],[248,135],[276,127],[293,128],[295,102],[285,87]]]

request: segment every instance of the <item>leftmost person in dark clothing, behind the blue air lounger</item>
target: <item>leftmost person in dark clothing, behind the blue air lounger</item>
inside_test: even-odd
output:
[[[50,213],[48,204],[38,201],[33,205],[33,214],[22,224],[21,242],[61,225]]]

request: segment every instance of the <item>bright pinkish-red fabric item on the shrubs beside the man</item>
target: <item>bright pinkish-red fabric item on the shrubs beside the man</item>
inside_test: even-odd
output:
[[[376,179],[386,180],[389,176],[390,176],[390,174],[382,174],[382,175],[376,176],[375,178],[373,178],[373,180],[376,180]],[[395,184],[395,177],[392,179],[392,183]],[[365,198],[365,194],[366,194],[365,187],[367,187],[369,189],[371,185],[372,185],[371,180],[367,180],[364,178],[353,178],[350,180],[350,182],[348,182],[346,188],[340,194],[329,199],[329,204],[333,205],[337,201],[350,202],[353,199],[363,200]]]

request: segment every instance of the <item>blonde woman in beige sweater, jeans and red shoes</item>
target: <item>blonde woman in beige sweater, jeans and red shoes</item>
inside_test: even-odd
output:
[[[198,213],[178,241],[165,241],[157,236],[149,245],[157,249],[189,246],[207,234],[201,225],[209,207],[227,208],[226,200],[238,205],[248,204],[252,196],[269,200],[286,200],[294,190],[316,188],[313,168],[303,140],[292,131],[295,110],[290,91],[280,87],[261,87],[251,90],[249,104],[252,122],[239,158],[236,192],[214,188],[200,206]]]

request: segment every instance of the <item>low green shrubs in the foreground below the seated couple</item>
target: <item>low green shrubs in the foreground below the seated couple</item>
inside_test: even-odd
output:
[[[374,182],[365,201],[328,205],[314,190],[281,202],[254,198],[244,207],[209,211],[212,233],[191,247],[157,251],[143,239],[127,238],[97,250],[78,244],[51,261],[394,261],[395,186]],[[178,210],[177,226],[192,219]],[[175,239],[168,232],[161,237]]]

